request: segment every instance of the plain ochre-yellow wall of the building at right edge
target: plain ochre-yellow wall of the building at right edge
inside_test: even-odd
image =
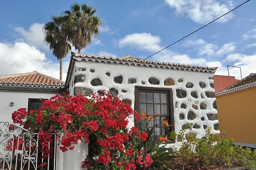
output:
[[[219,129],[227,139],[256,144],[256,87],[216,97]]]

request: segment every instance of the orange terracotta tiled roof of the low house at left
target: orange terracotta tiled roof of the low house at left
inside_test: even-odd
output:
[[[58,85],[64,86],[65,82],[47,75],[33,71],[30,73],[0,76],[0,83],[28,84],[28,85]]]

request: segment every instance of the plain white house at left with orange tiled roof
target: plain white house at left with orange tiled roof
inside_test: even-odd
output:
[[[12,122],[12,113],[19,108],[40,108],[41,99],[49,99],[64,89],[63,81],[37,71],[0,76],[0,122]]]

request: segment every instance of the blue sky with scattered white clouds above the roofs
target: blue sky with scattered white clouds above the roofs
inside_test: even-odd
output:
[[[102,20],[100,34],[82,54],[142,58],[154,54],[246,0],[0,0],[0,75],[38,71],[59,78],[59,61],[44,42],[43,26],[86,3]],[[241,67],[242,78],[256,73],[256,0],[148,58],[160,62]],[[73,52],[77,52],[72,48]],[[64,58],[66,79],[71,53]],[[229,68],[241,79],[240,69]]]

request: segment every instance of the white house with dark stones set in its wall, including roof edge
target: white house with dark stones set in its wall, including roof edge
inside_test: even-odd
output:
[[[155,62],[125,57],[101,57],[72,53],[67,72],[67,91],[76,96],[89,96],[105,89],[120,95],[122,101],[139,113],[157,116],[151,126],[161,133],[163,120],[174,125],[176,133],[192,122],[197,137],[204,129],[219,133],[213,85],[216,68]],[[210,118],[209,118],[210,117]],[[129,126],[134,126],[130,119]],[[169,134],[163,130],[162,136]],[[177,142],[176,142],[177,143]]]

